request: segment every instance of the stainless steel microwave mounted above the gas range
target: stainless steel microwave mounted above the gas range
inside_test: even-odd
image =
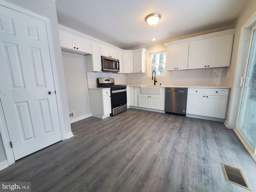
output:
[[[102,71],[119,72],[119,60],[111,57],[101,56]]]

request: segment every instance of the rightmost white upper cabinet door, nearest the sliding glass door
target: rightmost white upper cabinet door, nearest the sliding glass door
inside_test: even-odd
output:
[[[233,34],[210,38],[207,66],[230,66]]]

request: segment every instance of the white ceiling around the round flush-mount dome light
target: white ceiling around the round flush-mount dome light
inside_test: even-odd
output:
[[[233,26],[248,0],[56,0],[58,23],[122,49]],[[145,21],[157,12],[155,26]],[[156,38],[153,42],[152,38]]]

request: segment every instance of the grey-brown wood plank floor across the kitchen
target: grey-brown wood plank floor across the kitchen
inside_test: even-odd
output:
[[[225,181],[223,162],[256,191],[256,163],[220,122],[128,109],[72,132],[0,171],[0,181],[31,181],[33,192],[247,192]]]

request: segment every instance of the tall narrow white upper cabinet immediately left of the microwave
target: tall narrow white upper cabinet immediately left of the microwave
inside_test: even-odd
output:
[[[86,69],[90,72],[101,72],[101,57],[100,57],[100,45],[92,43],[92,54],[88,54],[86,57]]]

